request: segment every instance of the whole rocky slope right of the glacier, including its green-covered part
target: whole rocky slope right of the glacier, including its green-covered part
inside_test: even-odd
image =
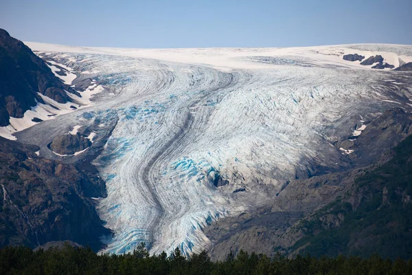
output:
[[[356,168],[291,181],[272,203],[212,223],[205,229],[211,256],[242,249],[410,258],[411,125],[411,113],[391,109],[350,141]]]

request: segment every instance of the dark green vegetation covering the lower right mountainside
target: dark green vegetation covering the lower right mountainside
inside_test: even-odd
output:
[[[306,236],[292,250],[313,256],[371,254],[395,260],[412,258],[412,136],[394,149],[393,158],[368,169],[355,179],[352,193],[334,201],[301,222]],[[358,198],[354,209],[349,201]],[[325,226],[326,214],[338,217],[341,224]]]

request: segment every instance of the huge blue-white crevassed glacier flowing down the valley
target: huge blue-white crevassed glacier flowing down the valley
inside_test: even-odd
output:
[[[366,125],[356,124],[390,107],[412,109],[411,74],[342,58],[381,54],[398,67],[412,61],[411,46],[26,44],[52,69],[69,70],[63,80],[82,94],[77,102],[83,107],[9,137],[37,144],[44,157],[72,162],[91,150],[55,155],[47,147],[54,136],[91,127],[95,146],[111,127],[93,161],[108,194],[93,201],[114,233],[102,236],[102,252],[131,252],[142,241],[155,254],[176,247],[187,255],[201,252],[210,245],[203,228],[212,221],[276,199],[297,170],[312,164],[339,169],[350,153],[334,142],[361,134]],[[86,80],[91,85],[80,89]]]

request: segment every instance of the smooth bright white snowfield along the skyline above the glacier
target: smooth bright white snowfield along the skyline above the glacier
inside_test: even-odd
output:
[[[289,47],[289,48],[207,48],[207,49],[119,49],[119,48],[96,48],[96,47],[71,47],[65,45],[53,45],[45,43],[25,42],[32,50],[48,52],[71,52],[89,54],[111,54],[117,56],[130,56],[142,58],[154,58],[163,61],[174,61],[196,65],[211,65],[220,69],[233,67],[252,69],[268,67],[268,64],[247,61],[248,56],[295,56],[312,60],[317,64],[344,65],[345,67],[357,67],[358,69],[371,69],[371,66],[360,65],[361,62],[344,61],[344,54],[361,54],[365,58],[369,56],[381,55],[384,62],[399,67],[399,58],[408,63],[412,62],[411,56],[398,55],[390,52],[391,47],[405,48],[407,45],[388,45],[382,50],[358,50],[352,47],[356,45],[334,45],[334,46],[314,46],[314,47]],[[373,48],[374,44],[371,44]],[[409,49],[410,50],[410,49]],[[410,50],[412,51],[412,50]],[[385,70],[387,70],[386,68]],[[100,70],[101,72],[101,70]],[[183,72],[190,72],[190,68],[183,68]]]

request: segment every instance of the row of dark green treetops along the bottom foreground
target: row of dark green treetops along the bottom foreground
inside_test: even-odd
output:
[[[170,256],[150,256],[142,243],[130,254],[95,254],[90,248],[65,245],[58,250],[25,247],[0,249],[0,274],[412,274],[412,261],[369,259],[338,256],[334,259],[296,256],[286,259],[277,254],[273,259],[264,254],[240,251],[229,254],[225,261],[210,261],[205,251],[189,259],[176,248]]]

